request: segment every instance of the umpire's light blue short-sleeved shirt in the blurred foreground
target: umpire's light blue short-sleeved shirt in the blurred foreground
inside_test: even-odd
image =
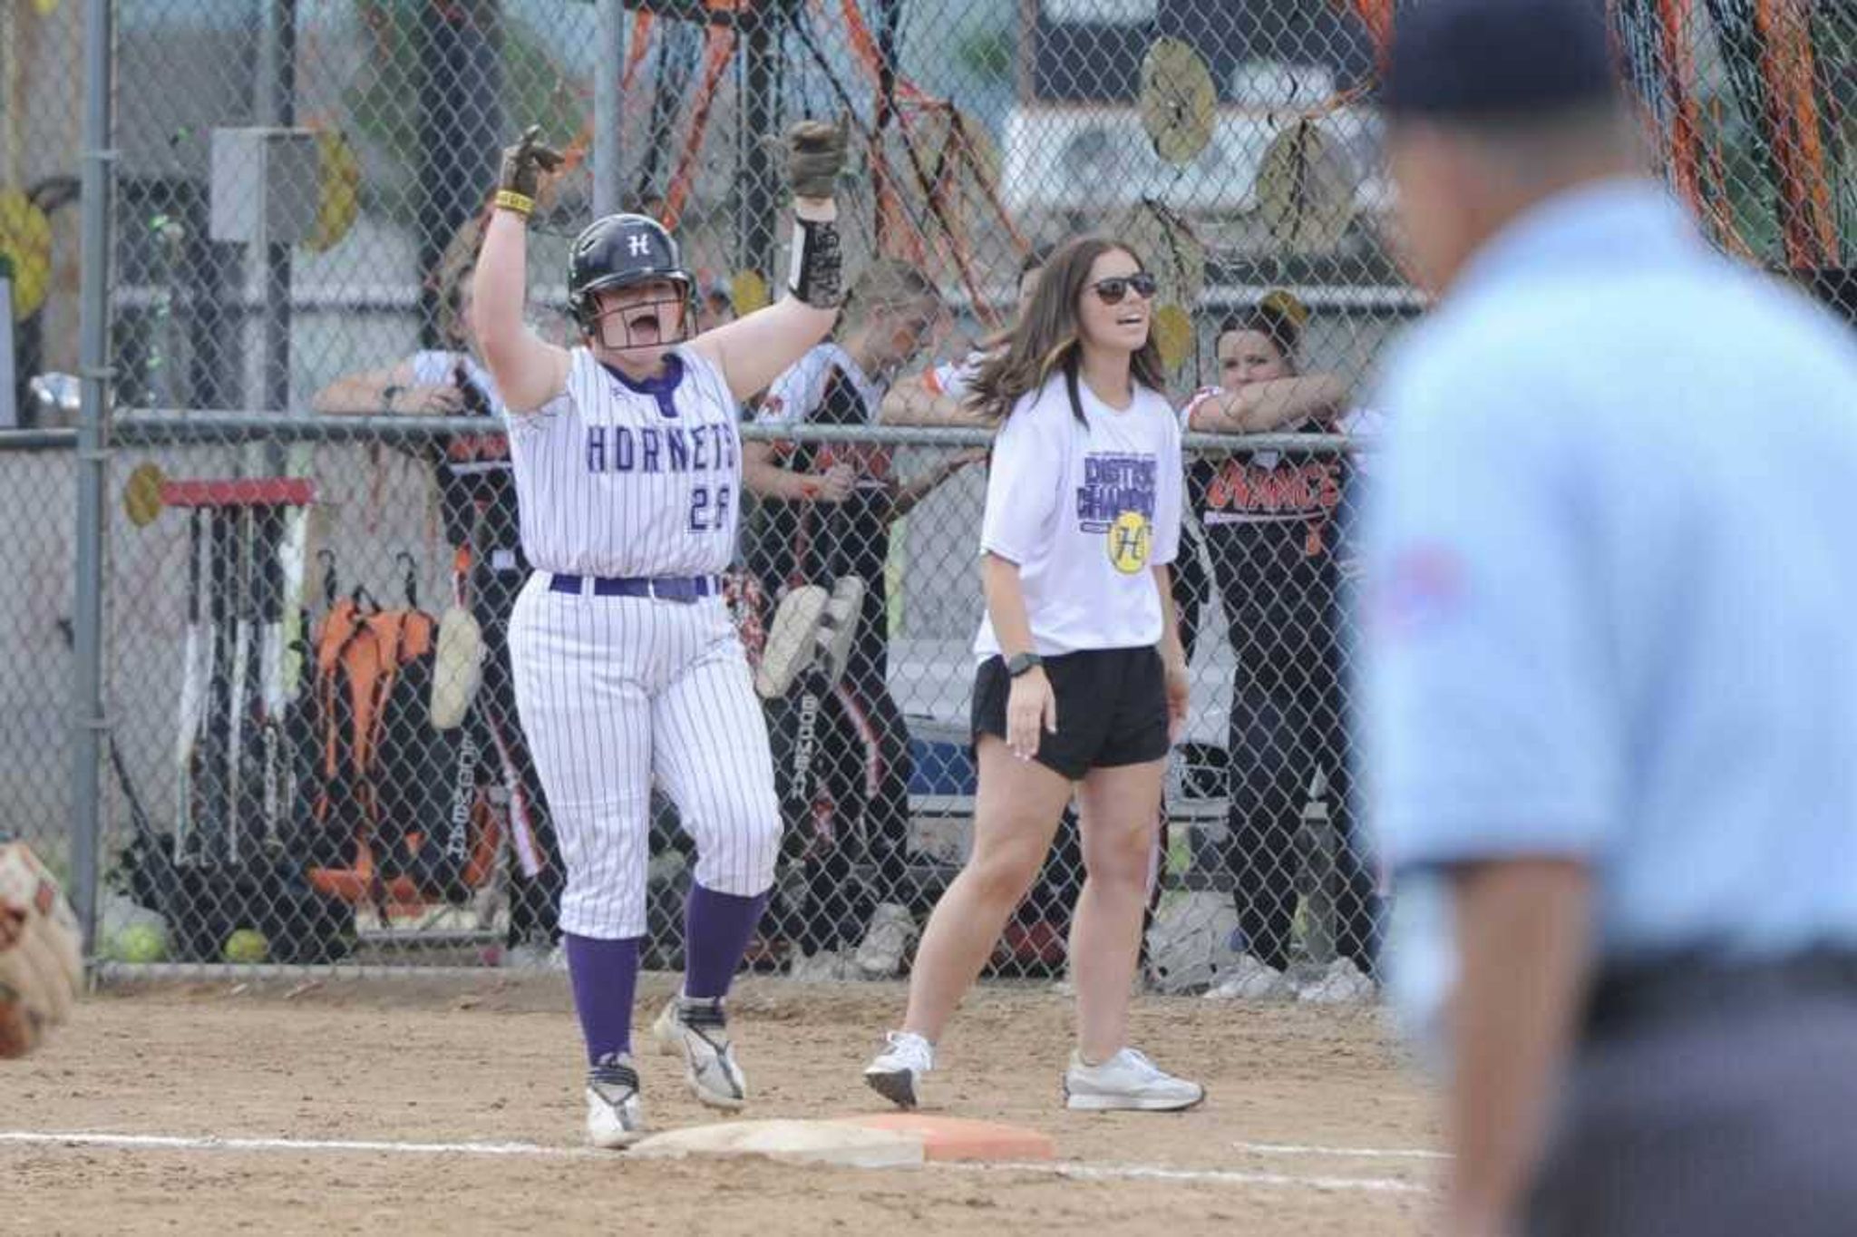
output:
[[[1365,737],[1395,875],[1586,860],[1608,960],[1857,945],[1848,327],[1619,180],[1489,243],[1380,401]]]

